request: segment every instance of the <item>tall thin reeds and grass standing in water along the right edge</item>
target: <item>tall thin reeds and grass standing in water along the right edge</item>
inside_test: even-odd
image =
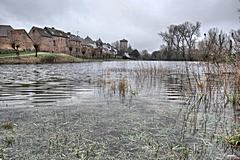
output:
[[[235,130],[240,122],[239,65],[198,63],[188,67],[192,87],[185,91],[191,94],[187,107],[180,112],[182,139],[197,139],[196,146],[204,142],[201,154],[195,154],[200,159],[214,156],[224,159],[227,154],[240,156],[239,148],[233,151],[231,147],[219,147],[238,143]]]

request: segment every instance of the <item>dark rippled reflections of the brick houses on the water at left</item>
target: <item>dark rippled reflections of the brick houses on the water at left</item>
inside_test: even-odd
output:
[[[86,70],[76,73],[71,65],[64,70],[61,65],[2,67],[0,101],[3,107],[54,106],[76,93],[93,92],[88,85],[90,77],[84,74]]]

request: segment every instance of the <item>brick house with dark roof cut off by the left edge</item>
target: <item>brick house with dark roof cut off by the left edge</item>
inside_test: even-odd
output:
[[[10,25],[0,25],[0,50],[12,49],[10,38],[12,30]]]

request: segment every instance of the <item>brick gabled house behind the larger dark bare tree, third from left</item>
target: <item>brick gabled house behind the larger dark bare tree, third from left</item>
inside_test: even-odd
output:
[[[53,37],[45,29],[33,26],[29,32],[34,45],[38,45],[38,51],[54,52]]]

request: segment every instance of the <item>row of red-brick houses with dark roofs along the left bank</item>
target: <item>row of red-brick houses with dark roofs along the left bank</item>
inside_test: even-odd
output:
[[[126,40],[125,40],[126,41]],[[122,42],[127,47],[127,41]],[[85,39],[55,28],[33,26],[27,34],[24,29],[13,29],[10,25],[0,25],[0,50],[35,50],[42,52],[68,53],[73,56],[101,57],[104,54],[116,54],[117,50],[101,39],[94,41],[89,36]]]

